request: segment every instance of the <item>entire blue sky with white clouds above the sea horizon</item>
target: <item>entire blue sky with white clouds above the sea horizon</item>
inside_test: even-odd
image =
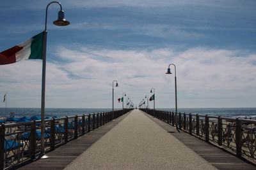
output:
[[[0,52],[44,31],[50,2],[1,1]],[[52,24],[60,6],[51,4],[46,108],[112,108],[113,80],[115,108],[124,92],[136,106],[152,88],[156,108],[175,108],[169,64],[178,108],[256,107],[255,0],[59,2],[70,25]],[[40,108],[41,85],[42,60],[0,66],[7,107]]]

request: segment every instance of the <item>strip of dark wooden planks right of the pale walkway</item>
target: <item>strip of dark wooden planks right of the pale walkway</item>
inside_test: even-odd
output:
[[[180,130],[180,132],[178,132],[172,125],[154,118],[147,113],[145,113],[145,115],[218,169],[256,169],[255,165],[245,162],[244,160],[221,150],[217,146],[206,143],[202,139],[191,136],[187,132]]]

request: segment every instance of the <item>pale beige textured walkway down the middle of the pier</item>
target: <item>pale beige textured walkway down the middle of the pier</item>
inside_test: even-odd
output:
[[[216,169],[134,110],[65,169]]]

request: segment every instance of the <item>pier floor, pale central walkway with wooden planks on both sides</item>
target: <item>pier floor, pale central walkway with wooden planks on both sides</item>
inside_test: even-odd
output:
[[[177,131],[167,117],[172,114],[156,111],[154,117],[150,110],[144,111],[120,113],[114,121],[48,152],[49,159],[34,159],[16,168],[256,169],[252,162],[223,148],[182,129]]]

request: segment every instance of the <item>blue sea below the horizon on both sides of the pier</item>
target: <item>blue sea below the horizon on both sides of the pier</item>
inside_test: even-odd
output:
[[[115,110],[120,110],[115,109]],[[175,108],[156,108],[156,110],[175,111]],[[112,111],[112,108],[45,108],[45,117],[65,117],[83,115],[86,113],[100,113]],[[181,113],[198,113],[199,115],[214,115],[225,117],[241,117],[256,119],[256,108],[178,108]],[[40,108],[0,108],[0,116],[10,117],[10,113],[15,117],[40,116]]]

